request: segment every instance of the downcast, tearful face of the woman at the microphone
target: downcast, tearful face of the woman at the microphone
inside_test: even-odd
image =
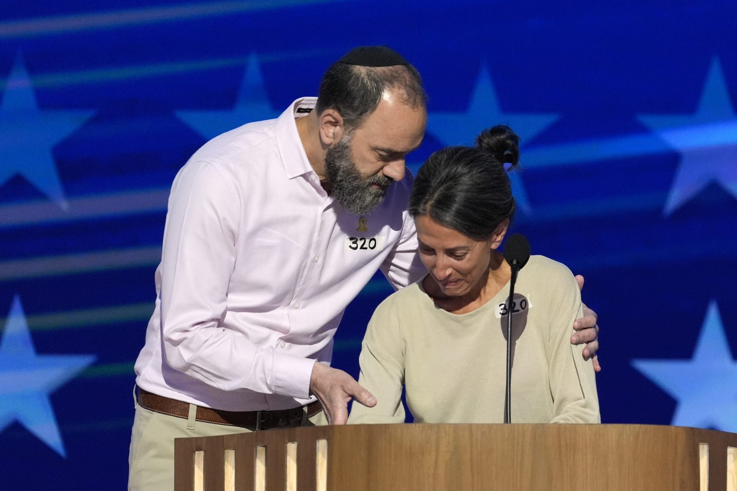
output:
[[[509,220],[505,220],[489,239],[477,240],[440,225],[430,216],[416,217],[420,258],[444,294],[468,294],[486,278],[492,250],[499,247],[508,225]]]

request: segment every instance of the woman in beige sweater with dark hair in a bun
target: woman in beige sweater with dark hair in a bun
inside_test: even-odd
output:
[[[374,312],[359,383],[377,404],[354,403],[349,423],[403,423],[402,386],[418,423],[503,423],[511,271],[497,248],[514,215],[504,164],[517,166],[518,143],[493,127],[419,169],[409,210],[428,274]],[[582,310],[567,267],[533,255],[513,310],[511,422],[600,423],[592,362],[570,345]]]

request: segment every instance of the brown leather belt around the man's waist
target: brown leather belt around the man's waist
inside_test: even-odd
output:
[[[150,409],[150,411],[183,417],[185,420],[189,417],[189,403],[152,394],[141,387],[139,387],[138,403],[139,406]],[[195,419],[205,423],[242,426],[251,431],[260,431],[301,426],[304,425],[307,418],[320,411],[322,411],[322,406],[318,401],[307,404],[307,406],[277,411],[223,411],[197,406]]]

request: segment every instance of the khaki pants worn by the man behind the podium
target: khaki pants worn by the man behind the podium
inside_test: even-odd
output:
[[[320,411],[306,425],[326,424],[325,414]],[[237,426],[185,420],[144,409],[136,403],[128,453],[128,491],[174,490],[175,438],[213,437],[249,431]]]

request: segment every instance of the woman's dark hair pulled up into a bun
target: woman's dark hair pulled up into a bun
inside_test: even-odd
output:
[[[430,155],[412,187],[409,211],[430,216],[472,239],[489,239],[514,215],[511,183],[504,169],[520,159],[520,137],[507,126],[483,130],[476,146],[449,146]]]

